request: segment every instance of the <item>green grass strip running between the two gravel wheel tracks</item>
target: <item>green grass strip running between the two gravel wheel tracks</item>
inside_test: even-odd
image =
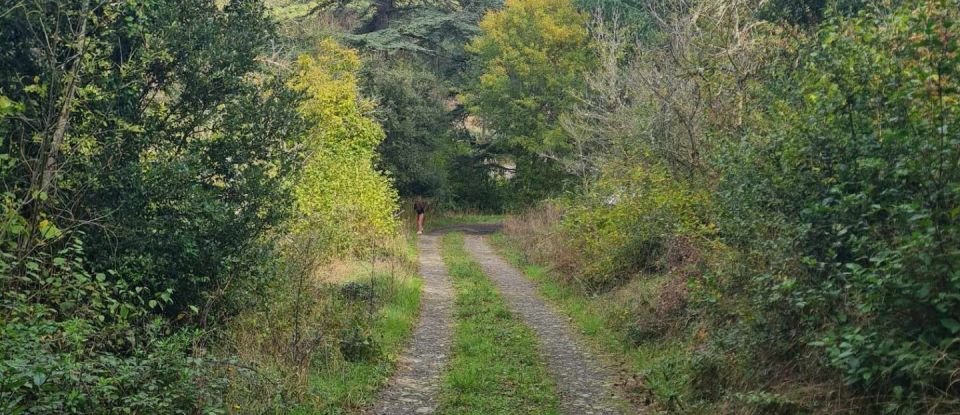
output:
[[[456,289],[453,356],[441,386],[442,414],[556,414],[556,387],[536,337],[513,315],[463,235],[443,238],[443,258]]]

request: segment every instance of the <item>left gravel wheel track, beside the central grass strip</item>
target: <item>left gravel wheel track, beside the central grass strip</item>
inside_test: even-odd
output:
[[[440,379],[450,355],[453,333],[453,286],[440,256],[440,236],[418,241],[423,292],[420,320],[397,373],[383,391],[377,415],[430,414],[437,407]]]

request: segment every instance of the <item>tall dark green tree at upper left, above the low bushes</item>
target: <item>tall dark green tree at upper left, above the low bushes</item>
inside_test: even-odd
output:
[[[261,2],[18,2],[0,26],[3,183],[27,224],[4,238],[24,256],[41,228],[83,230],[92,263],[202,303],[283,217],[297,162]]]

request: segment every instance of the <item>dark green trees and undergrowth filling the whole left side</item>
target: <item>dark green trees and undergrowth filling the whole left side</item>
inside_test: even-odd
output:
[[[302,137],[274,24],[257,0],[3,4],[0,412],[216,406],[177,328],[270,275]]]

